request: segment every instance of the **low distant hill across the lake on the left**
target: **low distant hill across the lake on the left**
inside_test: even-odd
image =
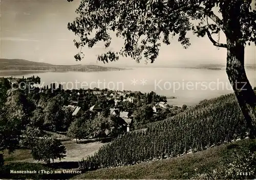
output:
[[[98,65],[53,65],[23,59],[0,59],[0,70],[40,70],[40,71],[110,71],[123,70],[117,67]]]

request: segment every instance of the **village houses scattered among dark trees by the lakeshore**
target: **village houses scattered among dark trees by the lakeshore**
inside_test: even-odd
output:
[[[40,83],[38,76],[11,77],[8,81],[12,89],[24,89],[24,86],[27,86],[24,90],[26,96],[33,97],[31,99],[34,102],[33,109],[41,113],[41,115],[39,112],[36,113],[34,118],[43,119],[37,124],[39,128],[45,131],[68,133],[74,127],[73,123],[76,124],[76,132],[78,132],[77,128],[83,132],[79,135],[73,133],[75,135],[72,137],[78,139],[95,138],[99,134],[101,137],[113,136],[114,129],[117,128],[118,133],[114,134],[118,136],[125,132],[138,130],[143,124],[172,117],[187,108],[186,105],[182,107],[169,105],[166,96],[158,95],[153,91],[142,93],[98,88],[64,90],[61,84],[55,83],[50,86],[35,87],[35,84]],[[90,129],[90,135],[85,129]]]

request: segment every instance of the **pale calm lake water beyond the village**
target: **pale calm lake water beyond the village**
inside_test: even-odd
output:
[[[246,70],[251,85],[256,86],[254,69]],[[208,70],[195,68],[134,68],[122,71],[101,72],[1,72],[1,76],[21,78],[38,75],[40,86],[51,82],[63,84],[64,89],[108,88],[141,92],[155,91],[165,96],[171,105],[193,106],[203,99],[232,92],[225,69]]]

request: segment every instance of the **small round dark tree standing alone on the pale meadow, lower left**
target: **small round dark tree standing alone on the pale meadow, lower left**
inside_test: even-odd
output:
[[[33,158],[38,161],[44,161],[49,164],[55,159],[65,158],[66,147],[58,139],[42,138],[38,139],[36,146],[32,151]]]

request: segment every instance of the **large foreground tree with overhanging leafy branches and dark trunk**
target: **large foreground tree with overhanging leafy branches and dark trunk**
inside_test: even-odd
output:
[[[67,0],[72,2],[73,0]],[[110,31],[125,39],[120,52],[99,55],[103,62],[118,60],[118,56],[129,56],[137,62],[142,59],[153,63],[158,57],[160,39],[170,44],[170,37],[179,35],[178,41],[187,48],[188,31],[209,38],[214,46],[227,49],[226,73],[238,99],[243,115],[250,128],[250,137],[256,135],[256,95],[247,79],[244,68],[246,44],[256,44],[256,11],[252,0],[144,0],[144,1],[81,1],[76,10],[78,17],[68,24],[68,29],[80,37],[75,46],[93,47],[104,41],[111,44]],[[213,11],[219,10],[220,16]],[[190,20],[199,21],[195,26]],[[211,21],[210,21],[211,20]],[[212,34],[223,32],[226,43],[219,43]],[[96,32],[94,35],[93,32]],[[81,60],[80,52],[75,56]]]

